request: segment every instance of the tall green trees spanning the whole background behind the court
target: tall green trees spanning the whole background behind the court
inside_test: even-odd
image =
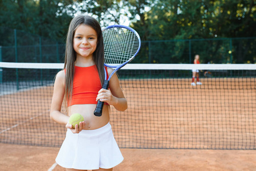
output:
[[[5,27],[0,44],[14,44],[13,30],[6,27],[64,42],[78,14],[94,16],[101,26],[127,17],[146,41],[135,62],[189,63],[195,54],[202,62],[256,61],[255,39],[232,39],[231,44],[230,39],[216,39],[255,37],[256,0],[0,0],[0,28]],[[36,35],[26,43],[38,44]]]

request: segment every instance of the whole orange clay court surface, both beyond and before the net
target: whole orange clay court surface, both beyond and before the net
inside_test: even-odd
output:
[[[120,82],[129,107],[112,109],[125,158],[114,170],[256,169],[255,78],[205,78],[196,87],[190,79]],[[51,96],[52,86],[0,96],[1,170],[55,163],[66,129],[50,120]]]

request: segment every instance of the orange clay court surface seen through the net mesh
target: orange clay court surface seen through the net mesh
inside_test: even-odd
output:
[[[255,78],[121,80],[128,109],[112,109],[121,148],[256,149]],[[60,146],[50,120],[52,87],[0,96],[0,142]],[[50,129],[51,128],[51,129]]]

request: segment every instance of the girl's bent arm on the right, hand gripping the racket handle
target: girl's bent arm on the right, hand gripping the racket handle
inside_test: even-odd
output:
[[[108,68],[108,75],[112,73],[112,69]],[[124,93],[120,87],[119,80],[116,74],[114,74],[109,80],[109,89],[100,89],[96,100],[104,101],[109,105],[113,105],[117,111],[125,111],[127,109],[127,100],[124,97]]]

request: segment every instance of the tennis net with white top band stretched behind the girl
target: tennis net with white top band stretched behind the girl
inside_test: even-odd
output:
[[[50,120],[56,63],[0,63],[0,143],[60,146]],[[192,86],[192,70],[199,82]],[[120,148],[256,149],[255,64],[128,64],[128,109],[111,107]]]

